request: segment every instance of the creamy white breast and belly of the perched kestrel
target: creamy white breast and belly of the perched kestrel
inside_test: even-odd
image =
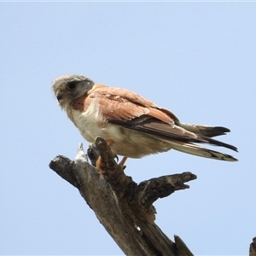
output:
[[[89,143],[94,143],[98,136],[102,137],[112,142],[111,148],[115,154],[131,158],[141,158],[171,148],[169,143],[156,137],[108,124],[96,107],[96,102],[92,102],[85,112],[72,109],[73,123]]]

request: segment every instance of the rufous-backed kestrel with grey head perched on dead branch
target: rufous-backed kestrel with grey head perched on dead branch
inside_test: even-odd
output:
[[[175,149],[213,160],[237,161],[230,154],[204,148],[210,144],[230,148],[212,137],[225,135],[223,126],[188,125],[166,108],[160,108],[131,90],[96,84],[77,74],[63,75],[52,83],[52,90],[62,110],[79,129],[82,137],[94,143],[102,137],[113,155],[142,158]]]

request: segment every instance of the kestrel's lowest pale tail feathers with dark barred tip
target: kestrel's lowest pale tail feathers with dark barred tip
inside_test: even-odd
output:
[[[193,143],[177,143],[172,141],[171,144],[173,149],[176,149],[183,153],[195,154],[197,156],[202,156],[214,160],[237,161],[237,159],[230,154],[223,154],[212,149],[202,148]]]

